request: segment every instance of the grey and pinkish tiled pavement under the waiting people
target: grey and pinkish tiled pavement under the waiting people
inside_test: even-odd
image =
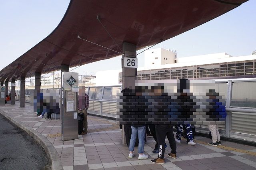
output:
[[[186,144],[183,140],[177,144],[176,160],[165,158],[165,164],[152,164],[151,158],[157,157],[152,153],[154,139],[147,138],[144,146],[145,154],[150,155],[147,160],[138,160],[138,156],[128,158],[128,147],[122,144],[122,133],[112,120],[88,116],[89,133],[79,135],[76,140],[62,141],[60,137],[50,137],[48,134],[61,133],[60,120],[46,120],[37,118],[31,112],[31,106],[26,104],[25,108],[16,105],[6,105],[0,110],[10,114],[29,127],[37,130],[54,145],[64,170],[86,170],[86,169],[111,169],[111,170],[255,170],[256,169],[256,147],[222,141],[223,146],[231,148],[223,149],[214,146],[200,144],[209,142],[210,139],[196,136],[199,140],[195,146]],[[57,135],[58,136],[58,135]],[[167,142],[168,143],[168,142]],[[240,152],[232,151],[238,148]],[[136,147],[137,150],[137,147]],[[136,151],[135,150],[135,151]],[[243,150],[251,151],[251,154],[242,153]],[[170,152],[170,146],[166,148],[166,155]],[[248,152],[249,153],[249,152]]]

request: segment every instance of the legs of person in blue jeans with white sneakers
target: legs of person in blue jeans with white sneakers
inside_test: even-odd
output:
[[[145,155],[144,152],[144,144],[145,144],[145,136],[146,136],[146,125],[132,125],[132,136],[130,139],[129,151],[130,154],[128,158],[133,158],[134,156],[134,145],[136,142],[136,137],[138,135],[139,138],[139,146],[138,146],[138,159],[148,159],[148,155]]]

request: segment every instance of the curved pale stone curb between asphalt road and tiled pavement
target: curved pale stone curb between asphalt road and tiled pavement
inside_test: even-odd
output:
[[[46,152],[50,160],[52,170],[63,170],[58,152],[56,151],[52,143],[44,135],[28,127],[25,123],[22,123],[21,121],[15,119],[14,117],[11,117],[4,111],[0,110],[0,114],[2,114],[4,117],[6,117],[9,121],[14,123],[16,126],[21,128],[22,130],[26,131],[30,136],[32,136],[36,140],[36,142],[38,142],[38,144],[40,144],[44,148],[44,151]]]

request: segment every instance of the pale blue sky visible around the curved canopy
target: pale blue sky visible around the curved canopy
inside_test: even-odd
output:
[[[0,70],[48,36],[59,24],[69,0],[0,1]],[[256,0],[153,48],[176,49],[178,57],[226,52],[232,56],[250,55],[256,50]],[[140,52],[140,51],[138,51]],[[144,53],[138,66],[144,66]],[[74,71],[95,74],[121,69],[121,57],[83,65]],[[114,64],[113,64],[114,63]]]

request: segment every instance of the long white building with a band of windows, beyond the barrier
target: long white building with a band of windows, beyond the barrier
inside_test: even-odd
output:
[[[122,69],[99,71],[96,75],[96,86],[122,83]],[[147,50],[145,66],[139,67],[137,71],[138,80],[254,77],[256,77],[256,55],[232,57],[227,53],[215,53],[177,58],[176,52],[162,48]]]

